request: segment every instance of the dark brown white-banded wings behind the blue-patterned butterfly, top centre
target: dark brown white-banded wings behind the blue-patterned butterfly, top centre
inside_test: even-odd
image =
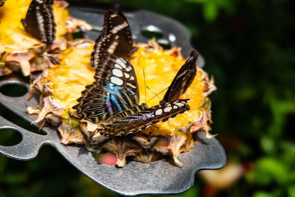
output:
[[[91,66],[96,69],[104,53],[111,53],[125,61],[129,60],[133,47],[129,24],[119,10],[109,10],[104,16],[104,26],[101,35],[95,41],[91,56]]]

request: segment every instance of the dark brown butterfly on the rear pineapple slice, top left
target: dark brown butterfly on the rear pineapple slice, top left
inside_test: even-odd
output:
[[[52,44],[55,39],[53,0],[32,0],[21,22],[28,34],[41,42]]]

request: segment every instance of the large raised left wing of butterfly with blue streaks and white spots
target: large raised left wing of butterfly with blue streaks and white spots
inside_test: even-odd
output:
[[[105,53],[94,78],[96,82],[86,86],[73,107],[83,119],[99,123],[138,105],[137,80],[129,61]]]

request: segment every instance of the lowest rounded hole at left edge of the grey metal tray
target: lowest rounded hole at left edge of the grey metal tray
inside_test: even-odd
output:
[[[0,128],[0,145],[14,146],[22,141],[22,134],[16,128]]]

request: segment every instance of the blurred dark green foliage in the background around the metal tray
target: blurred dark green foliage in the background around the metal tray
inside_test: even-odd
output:
[[[190,29],[218,88],[210,97],[212,133],[219,134],[228,162],[248,166],[230,188],[208,193],[196,175],[194,186],[178,196],[295,197],[295,2],[120,4],[169,16]],[[0,155],[0,197],[65,195],[119,196],[78,172],[52,147],[43,147],[31,161]]]

